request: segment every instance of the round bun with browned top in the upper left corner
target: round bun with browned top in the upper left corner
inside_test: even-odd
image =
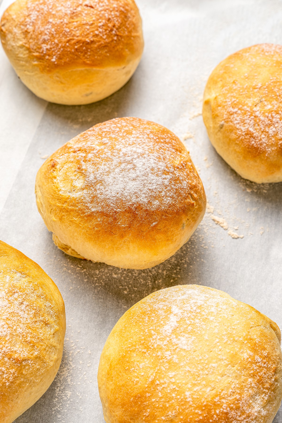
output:
[[[0,37],[22,82],[59,104],[110,96],[143,51],[134,0],[16,0],[2,16]]]

